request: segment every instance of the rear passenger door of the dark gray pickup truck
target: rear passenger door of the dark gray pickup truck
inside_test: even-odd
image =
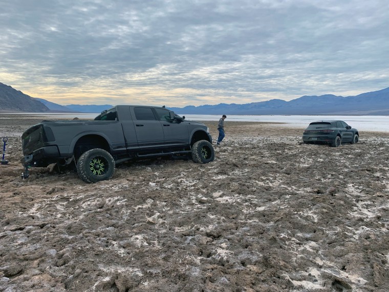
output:
[[[134,126],[140,148],[163,146],[163,130],[152,108],[134,107]]]

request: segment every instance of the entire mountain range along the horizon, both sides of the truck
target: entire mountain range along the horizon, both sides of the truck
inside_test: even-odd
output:
[[[82,112],[100,113],[111,105],[61,106],[42,98],[34,98],[0,82],[0,112]],[[285,101],[271,99],[242,105],[168,107],[180,114],[235,114],[235,115],[389,115],[389,88],[356,96],[301,96]]]

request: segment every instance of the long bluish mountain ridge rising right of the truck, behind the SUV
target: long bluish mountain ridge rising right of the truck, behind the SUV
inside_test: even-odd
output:
[[[389,115],[389,88],[356,96],[301,96],[285,101],[271,99],[261,102],[204,105],[169,108],[179,114],[234,115]]]

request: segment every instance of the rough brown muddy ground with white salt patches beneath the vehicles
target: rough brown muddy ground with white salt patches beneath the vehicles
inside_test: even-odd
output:
[[[331,148],[301,144],[302,129],[226,120],[209,164],[22,180],[20,135],[41,119],[0,115],[1,291],[388,290],[389,133]]]

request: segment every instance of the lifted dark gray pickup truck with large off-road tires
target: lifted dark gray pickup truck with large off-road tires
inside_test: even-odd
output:
[[[160,156],[214,159],[212,137],[200,122],[185,120],[164,107],[116,106],[94,120],[44,120],[21,136],[25,166],[75,163],[79,177],[89,183],[112,178],[115,164]]]

